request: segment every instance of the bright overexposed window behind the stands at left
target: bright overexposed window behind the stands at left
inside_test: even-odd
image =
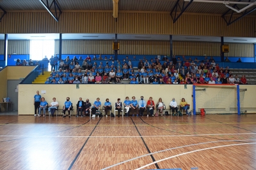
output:
[[[50,59],[52,55],[54,55],[54,39],[30,41],[30,59],[42,60],[45,56]]]

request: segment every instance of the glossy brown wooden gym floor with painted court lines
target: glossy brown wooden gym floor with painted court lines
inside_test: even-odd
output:
[[[0,116],[0,169],[256,169],[256,115]]]

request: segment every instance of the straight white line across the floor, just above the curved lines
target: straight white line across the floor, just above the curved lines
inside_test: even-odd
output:
[[[90,138],[159,138],[159,137],[184,137],[184,136],[221,136],[221,135],[243,135],[240,134],[184,134],[184,135],[154,135],[154,136],[90,136]],[[36,137],[36,138],[88,138],[89,136],[26,136],[26,135],[0,135],[0,137]]]

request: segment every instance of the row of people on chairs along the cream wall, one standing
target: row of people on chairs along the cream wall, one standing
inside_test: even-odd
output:
[[[54,117],[54,113],[56,110],[58,110],[59,103],[56,101],[56,98],[52,98],[51,104],[48,104],[47,101],[45,101],[44,97],[41,97],[39,94],[39,91],[36,91],[36,95],[34,96],[34,106],[35,106],[35,117],[41,117],[41,112],[43,110],[43,117],[46,115],[46,111],[48,108],[49,115],[51,114],[52,117]],[[175,98],[172,99],[172,101],[169,104],[170,110],[172,111],[172,116],[178,115],[178,110],[184,110],[186,111],[186,115],[188,116],[188,109],[189,104],[185,101],[184,98],[180,101],[180,104],[177,104],[177,101],[175,101]],[[62,113],[63,117],[66,117],[66,112],[68,112],[68,117],[70,117],[70,111],[73,110],[73,104],[70,101],[70,97],[67,97],[65,103],[63,104]],[[90,116],[90,112],[92,111],[92,117],[95,117],[97,115],[97,111],[99,111],[100,107],[102,107],[102,104],[100,102],[100,98],[98,97],[96,101],[91,104],[89,99],[86,99],[86,101],[83,101],[82,97],[79,97],[79,100],[76,104],[76,117],[86,117]],[[124,111],[125,117],[129,117],[130,113],[132,117],[143,117],[143,112],[147,111],[147,115],[150,115],[151,117],[154,117],[154,110],[156,110],[155,115],[164,115],[164,110],[166,108],[166,105],[163,103],[162,99],[159,98],[157,103],[154,103],[154,100],[152,97],[149,97],[148,101],[146,102],[144,97],[141,96],[140,100],[137,101],[135,96],[132,96],[132,99],[130,100],[129,97],[125,97],[124,103],[122,103],[121,99],[118,98],[115,105],[112,106],[109,99],[106,99],[102,110],[104,110],[106,117],[111,115],[112,107],[115,108],[116,111],[118,111],[118,117],[120,117],[120,113]],[[124,108],[124,110],[123,110]],[[100,113],[98,113],[100,115]],[[180,114],[179,114],[180,115]],[[182,116],[182,115],[180,115]]]

